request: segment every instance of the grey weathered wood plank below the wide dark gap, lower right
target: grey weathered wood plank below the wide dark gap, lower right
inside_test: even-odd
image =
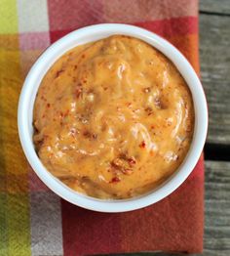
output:
[[[206,162],[204,255],[230,255],[230,162]]]

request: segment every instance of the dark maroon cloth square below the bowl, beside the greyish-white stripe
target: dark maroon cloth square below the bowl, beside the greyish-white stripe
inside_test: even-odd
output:
[[[98,213],[61,200],[63,251],[66,256],[122,250],[122,215]]]

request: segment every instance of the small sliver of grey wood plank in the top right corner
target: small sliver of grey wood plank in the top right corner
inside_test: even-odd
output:
[[[230,0],[200,0],[200,11],[230,15]]]

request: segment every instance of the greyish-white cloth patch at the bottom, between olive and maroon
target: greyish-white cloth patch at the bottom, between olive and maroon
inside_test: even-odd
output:
[[[63,255],[60,198],[54,192],[30,193],[32,256]]]

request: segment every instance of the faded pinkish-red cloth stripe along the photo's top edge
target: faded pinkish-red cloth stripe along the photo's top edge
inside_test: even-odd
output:
[[[170,7],[170,9],[169,9]],[[50,30],[76,29],[98,22],[169,20],[197,17],[197,0],[48,0]]]

